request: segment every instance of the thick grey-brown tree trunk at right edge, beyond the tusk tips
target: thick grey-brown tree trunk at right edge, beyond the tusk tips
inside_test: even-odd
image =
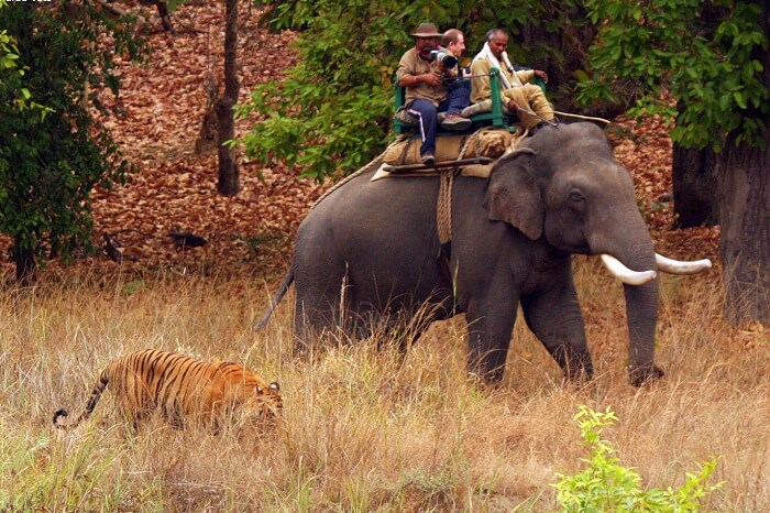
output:
[[[721,176],[721,253],[725,318],[770,326],[770,131],[766,146],[728,143]]]

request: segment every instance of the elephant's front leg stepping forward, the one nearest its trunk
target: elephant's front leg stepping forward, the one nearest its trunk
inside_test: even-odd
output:
[[[568,379],[592,378],[585,325],[571,281],[521,299],[527,326],[559,363]]]

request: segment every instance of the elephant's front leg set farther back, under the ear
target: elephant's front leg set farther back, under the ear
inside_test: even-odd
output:
[[[468,323],[468,370],[486,383],[503,378],[510,335],[516,323],[518,296],[510,291],[488,291],[482,299],[471,301]]]

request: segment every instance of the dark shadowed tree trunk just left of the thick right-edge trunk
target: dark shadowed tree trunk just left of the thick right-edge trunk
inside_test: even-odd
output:
[[[716,199],[718,175],[711,148],[695,150],[674,143],[673,197],[675,228],[719,223]]]

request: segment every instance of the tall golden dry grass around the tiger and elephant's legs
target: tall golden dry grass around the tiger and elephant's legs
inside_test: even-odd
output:
[[[557,511],[550,485],[586,455],[579,405],[612,408],[605,432],[648,487],[681,484],[718,457],[708,511],[770,511],[770,342],[726,326],[717,273],[662,276],[659,383],[631,388],[622,287],[575,262],[597,375],[563,384],[519,315],[505,379],[464,370],[462,318],[438,323],[404,358],[382,338],[338,339],[296,357],[290,301],[248,276],[105,277],[81,272],[0,299],[0,510]],[[105,394],[79,411],[111,359],[142,348],[244,363],[278,380],[285,422],[243,440],[151,422],[134,433]]]

